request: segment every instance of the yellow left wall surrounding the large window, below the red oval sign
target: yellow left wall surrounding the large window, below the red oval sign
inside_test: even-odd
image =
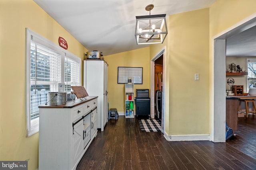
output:
[[[32,0],[0,0],[0,160],[29,160],[38,168],[38,133],[26,137],[25,29],[58,45],[68,42],[68,51],[84,59],[87,51],[74,37]]]

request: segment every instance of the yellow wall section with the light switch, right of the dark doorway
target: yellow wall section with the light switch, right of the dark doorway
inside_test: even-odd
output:
[[[175,14],[169,22],[169,135],[209,134],[209,9]]]

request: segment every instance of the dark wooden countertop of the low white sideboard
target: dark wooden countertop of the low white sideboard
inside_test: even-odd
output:
[[[86,99],[76,99],[75,102],[73,101],[67,101],[67,103],[65,105],[60,105],[60,106],[48,106],[48,105],[40,105],[38,106],[38,108],[72,108],[72,107],[75,107],[75,106],[78,106],[80,104],[83,104],[85,102],[88,102],[90,100],[93,100],[95,98],[98,98],[98,96],[87,96]]]

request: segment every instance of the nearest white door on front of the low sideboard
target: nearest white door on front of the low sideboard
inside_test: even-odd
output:
[[[83,130],[84,124],[83,119],[74,125],[74,130],[72,134],[72,144],[71,144],[71,159],[72,166],[78,161],[79,157],[84,151],[83,148]]]

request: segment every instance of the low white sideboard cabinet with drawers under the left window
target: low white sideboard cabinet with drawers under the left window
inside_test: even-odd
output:
[[[39,106],[39,169],[75,170],[97,135],[97,96]]]

